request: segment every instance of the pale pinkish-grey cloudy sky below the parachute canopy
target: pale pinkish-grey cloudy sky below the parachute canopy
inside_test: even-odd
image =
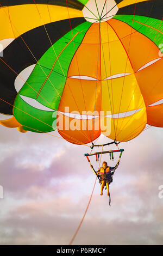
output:
[[[53,135],[58,136],[57,132]],[[0,126],[0,244],[68,245],[89,202],[96,175],[84,145]],[[150,127],[124,149],[120,166],[100,196],[96,181],[89,209],[73,245],[162,245],[162,129]],[[104,136],[99,143],[109,142]],[[110,146],[116,149],[116,146]],[[108,148],[106,148],[108,150]],[[103,155],[102,161],[115,166]],[[96,160],[91,158],[98,169]],[[161,194],[161,196],[159,196]]]

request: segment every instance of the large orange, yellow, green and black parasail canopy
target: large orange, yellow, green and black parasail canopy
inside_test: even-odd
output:
[[[163,127],[162,0],[1,1],[0,123],[74,144]]]

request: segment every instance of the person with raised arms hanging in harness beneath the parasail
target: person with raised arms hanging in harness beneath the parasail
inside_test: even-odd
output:
[[[108,166],[107,162],[104,161],[103,166],[97,172],[93,169],[92,164],[90,164],[93,172],[97,175],[99,182],[101,183],[101,194],[100,194],[101,196],[103,195],[104,186],[106,186],[108,191],[108,196],[110,196],[109,184],[112,182],[112,176],[119,164],[120,164],[120,160],[118,160],[115,167],[110,167]]]

